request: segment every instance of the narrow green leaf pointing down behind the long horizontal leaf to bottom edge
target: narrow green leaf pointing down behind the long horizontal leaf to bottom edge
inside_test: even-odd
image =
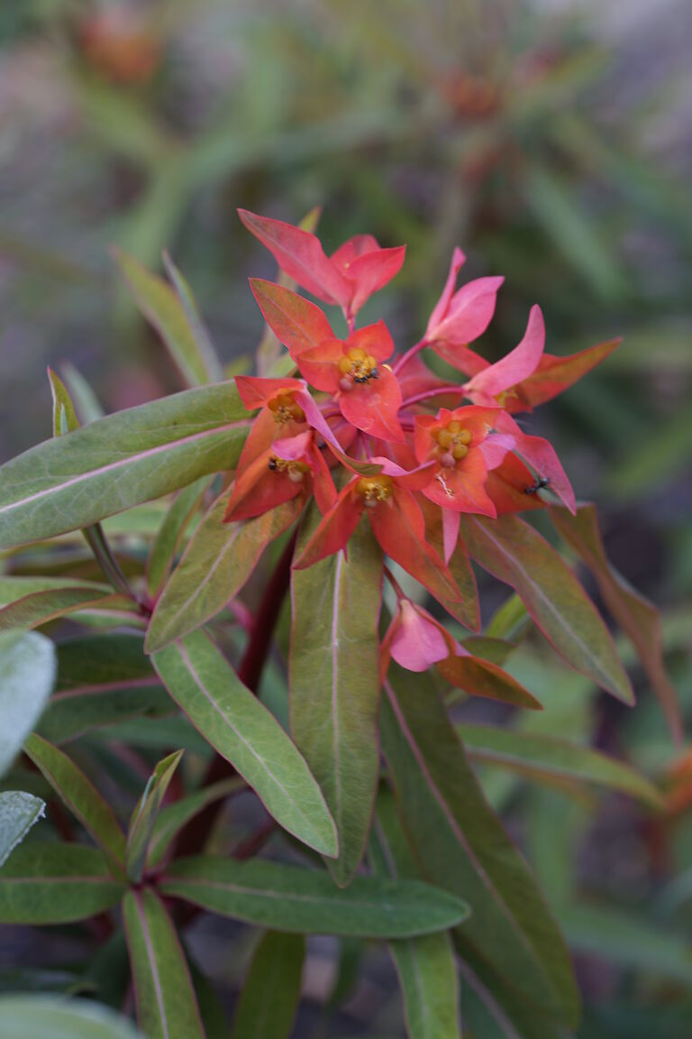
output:
[[[380,876],[419,876],[386,791],[378,798],[369,857]],[[459,982],[449,934],[390,941],[389,951],[404,996],[410,1039],[459,1039]]]

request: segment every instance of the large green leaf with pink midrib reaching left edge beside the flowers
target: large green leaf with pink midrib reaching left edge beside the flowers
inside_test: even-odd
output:
[[[0,468],[0,549],[88,527],[232,469],[248,428],[231,382],[99,419]]]

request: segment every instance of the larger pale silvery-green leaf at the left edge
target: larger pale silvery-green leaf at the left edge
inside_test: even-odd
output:
[[[0,633],[0,776],[35,727],[55,681],[55,647],[35,632]]]

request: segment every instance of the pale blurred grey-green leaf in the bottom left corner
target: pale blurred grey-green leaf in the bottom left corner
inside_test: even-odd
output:
[[[142,1039],[126,1017],[101,1003],[40,995],[0,995],[5,1039]]]

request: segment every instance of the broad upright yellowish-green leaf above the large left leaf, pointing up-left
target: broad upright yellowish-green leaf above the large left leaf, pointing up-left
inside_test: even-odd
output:
[[[203,385],[205,382],[222,378],[219,363],[215,354],[209,350],[211,345],[209,340],[198,339],[201,322],[196,308],[194,325],[186,313],[190,307],[194,308],[187,285],[184,290],[186,292],[184,304],[163,278],[142,267],[133,257],[117,249],[114,250],[114,256],[132,289],[139,310],[161,336],[186,385]],[[172,264],[170,266],[172,267]]]

